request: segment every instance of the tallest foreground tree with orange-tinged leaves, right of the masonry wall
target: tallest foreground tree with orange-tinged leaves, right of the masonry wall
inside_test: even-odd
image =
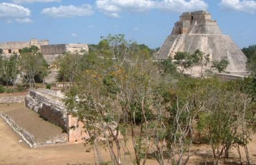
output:
[[[90,126],[86,127],[86,131],[91,134],[97,155],[101,155],[97,151],[97,139],[106,137],[105,147],[113,164],[125,164],[125,153],[129,151],[126,146],[127,131],[130,130],[134,163],[145,164],[150,147],[151,73],[156,72],[156,67],[150,61],[145,62],[150,60],[145,46],[128,43],[122,35],[109,36],[95,50],[99,55],[93,53],[97,57],[92,58],[90,53],[83,56],[89,67],[80,70],[76,83],[67,92],[66,104],[71,112],[76,109],[73,114]],[[95,126],[99,126],[101,131],[93,131],[97,130]],[[99,159],[98,162],[102,161]]]

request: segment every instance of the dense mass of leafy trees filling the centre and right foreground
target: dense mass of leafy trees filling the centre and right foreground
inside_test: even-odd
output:
[[[81,67],[74,69],[79,72],[65,101],[85,124],[96,164],[105,162],[100,145],[109,151],[113,164],[131,159],[126,152],[133,152],[137,165],[145,164],[150,153],[161,165],[187,164],[195,141],[211,146],[214,164],[228,158],[232,147],[239,155],[244,150],[250,164],[247,144],[256,121],[253,81],[189,78],[177,72],[171,59],[154,62],[147,47],[130,43],[123,35],[102,38],[90,49],[79,57],[78,63],[85,65],[76,65]],[[175,60],[184,68],[204,66],[209,55],[179,52]],[[129,140],[133,151],[126,146]]]

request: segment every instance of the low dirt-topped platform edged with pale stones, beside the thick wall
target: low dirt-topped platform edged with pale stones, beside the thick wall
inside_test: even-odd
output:
[[[42,119],[38,113],[24,107],[24,103],[0,106],[0,116],[32,148],[68,143],[68,134]]]

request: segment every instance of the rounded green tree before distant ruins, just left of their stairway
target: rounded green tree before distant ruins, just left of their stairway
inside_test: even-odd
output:
[[[49,71],[49,65],[36,46],[23,48],[18,63],[21,68],[23,80],[30,85],[30,88],[35,86],[36,75],[42,76],[41,78],[43,79]]]

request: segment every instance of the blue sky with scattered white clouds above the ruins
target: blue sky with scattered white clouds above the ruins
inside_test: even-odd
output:
[[[98,43],[101,36],[160,47],[183,11],[206,9],[239,47],[256,44],[254,0],[0,0],[0,42]]]

